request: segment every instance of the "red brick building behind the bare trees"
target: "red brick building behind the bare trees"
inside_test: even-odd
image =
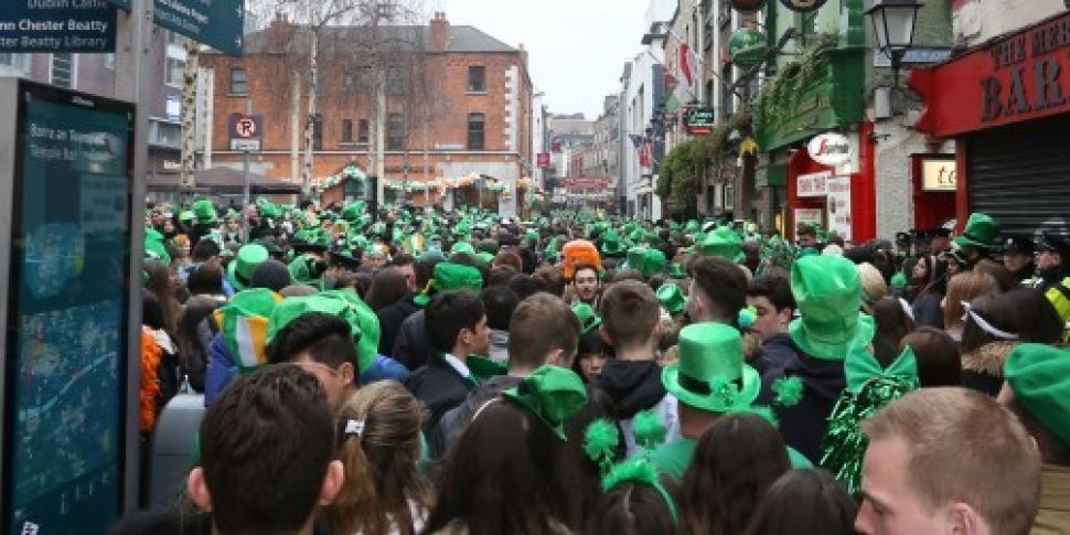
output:
[[[254,172],[301,181],[312,38],[309,26],[279,18],[246,36],[243,57],[202,56],[202,66],[214,72],[213,167],[242,164],[242,153],[229,150],[228,117],[243,113],[248,98],[254,114],[264,118]],[[531,175],[534,161],[532,81],[522,46],[509,46],[473,26],[450,25],[445,13],[436,13],[428,25],[324,26],[315,40],[313,185],[334,183],[329,179],[350,165],[375,174],[368,147],[375,141],[374,87],[381,79],[386,120],[379,180],[395,188],[387,190],[387,199],[471,204],[481,199],[474,185],[425,191],[421,184],[485,178],[505,188],[484,192],[484,205],[503,215],[518,212],[523,192],[516,185],[528,182],[521,179]],[[344,183],[319,190],[323,202],[353,194]],[[452,199],[443,199],[445,192]]]

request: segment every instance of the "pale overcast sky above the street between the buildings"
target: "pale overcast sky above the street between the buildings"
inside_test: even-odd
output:
[[[532,83],[550,113],[602,110],[616,94],[624,62],[642,49],[649,0],[427,0],[450,24],[479,28],[528,50]]]

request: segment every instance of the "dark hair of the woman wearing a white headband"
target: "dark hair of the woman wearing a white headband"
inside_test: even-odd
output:
[[[1007,293],[988,293],[974,299],[970,306],[973,313],[996,329],[1017,334],[1016,341],[1053,344],[1062,340],[1064,323],[1040,290],[1021,288]],[[1001,340],[967,317],[960,347],[963,353],[969,353]]]

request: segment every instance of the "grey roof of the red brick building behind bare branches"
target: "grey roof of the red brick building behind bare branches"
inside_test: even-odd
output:
[[[308,25],[292,25],[293,35],[287,47],[289,50],[307,50],[311,41],[311,31]],[[252,32],[245,36],[245,54],[280,53],[279,46],[272,43],[272,28]],[[427,25],[384,25],[378,28],[378,41],[386,43],[395,51],[429,50],[430,47],[430,26]],[[362,43],[371,43],[373,40],[370,26],[323,26],[319,41],[321,45],[338,43],[344,47],[360,46]],[[510,46],[482,30],[470,25],[451,25],[450,43],[446,52],[458,53],[486,53],[502,52],[514,53],[518,49]]]

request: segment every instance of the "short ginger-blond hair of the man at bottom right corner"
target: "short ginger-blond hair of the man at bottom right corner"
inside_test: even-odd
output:
[[[928,513],[969,504],[992,533],[1029,533],[1040,500],[1040,456],[1018,419],[965,388],[922,388],[863,421],[870,441],[908,445],[907,481]]]

